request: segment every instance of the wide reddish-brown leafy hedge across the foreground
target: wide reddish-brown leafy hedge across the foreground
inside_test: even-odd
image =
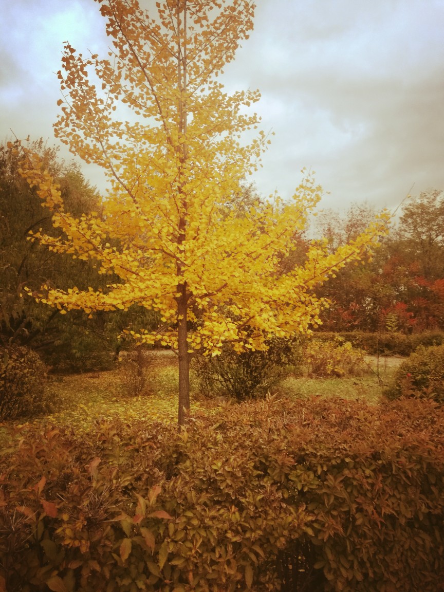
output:
[[[6,590],[444,590],[433,401],[254,401],[182,432],[25,426],[0,474]]]

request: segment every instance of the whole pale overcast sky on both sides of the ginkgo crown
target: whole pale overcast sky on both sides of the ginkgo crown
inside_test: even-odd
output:
[[[260,194],[288,197],[303,166],[330,192],[324,207],[395,207],[412,185],[444,189],[444,0],[257,4],[224,81],[262,92],[256,111],[275,136],[254,178]],[[0,140],[12,128],[56,143],[63,41],[105,57],[104,25],[92,0],[2,3]]]

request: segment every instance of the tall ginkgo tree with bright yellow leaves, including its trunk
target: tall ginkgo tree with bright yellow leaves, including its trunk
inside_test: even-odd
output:
[[[334,253],[313,243],[304,266],[278,273],[320,188],[308,175],[288,202],[253,201],[242,213],[233,207],[268,142],[258,131],[242,143],[243,132],[258,126],[249,107],[259,92],[229,95],[218,80],[253,28],[253,2],[164,0],[147,10],[137,0],[95,1],[112,49],[99,59],[66,43],[58,73],[62,114],[54,128],[73,153],[107,172],[104,215],[70,215],[26,149],[22,174],[62,231],[56,238],[36,232],[33,239],[94,259],[112,283],[102,291],[42,287],[34,296],[62,312],[137,303],[160,313],[159,330],[133,336],[178,353],[183,424],[192,353],[218,355],[227,344],[237,352],[266,349],[272,336],[310,330],[321,306],[313,288],[360,259],[385,222],[375,220]]]

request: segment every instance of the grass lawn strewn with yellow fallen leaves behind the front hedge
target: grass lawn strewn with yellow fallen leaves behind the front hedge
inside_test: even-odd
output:
[[[376,403],[383,383],[390,380],[402,358],[380,358],[379,379],[376,358],[368,356],[369,372],[362,377],[295,378],[289,376],[279,385],[279,395],[291,398],[311,395],[338,395],[363,398]],[[163,422],[176,422],[178,397],[177,358],[171,352],[159,352],[150,365],[147,392],[130,397],[123,384],[123,372],[116,368],[108,372],[63,375],[52,378],[51,388],[59,401],[59,409],[50,416],[30,423],[49,420],[56,425],[69,425],[76,430],[89,430],[97,420],[120,417],[125,422],[151,417]],[[192,413],[216,413],[219,403],[200,396],[191,384]],[[23,423],[14,422],[14,423]]]

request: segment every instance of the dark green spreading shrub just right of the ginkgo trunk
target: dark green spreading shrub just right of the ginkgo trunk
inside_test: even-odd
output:
[[[197,355],[192,369],[205,397],[224,395],[237,401],[265,397],[286,374],[300,365],[297,340],[274,339],[266,351],[236,353],[224,348],[213,358]]]

